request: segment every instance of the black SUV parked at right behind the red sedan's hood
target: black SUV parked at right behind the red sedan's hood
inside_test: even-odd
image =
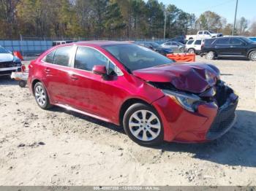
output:
[[[202,55],[206,55],[209,60],[218,57],[241,57],[256,61],[256,42],[244,36],[206,39]]]

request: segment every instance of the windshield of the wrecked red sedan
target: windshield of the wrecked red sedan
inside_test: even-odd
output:
[[[173,63],[169,58],[137,44],[115,44],[102,47],[123,63],[129,71]]]

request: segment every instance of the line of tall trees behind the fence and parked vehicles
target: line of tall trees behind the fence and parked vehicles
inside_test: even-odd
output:
[[[148,39],[213,30],[230,35],[233,25],[215,12],[200,17],[157,0],[0,0],[0,39]],[[241,17],[236,34],[256,36]]]

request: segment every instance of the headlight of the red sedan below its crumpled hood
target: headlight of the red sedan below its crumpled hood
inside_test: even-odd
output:
[[[204,102],[195,94],[187,94],[172,90],[162,90],[162,92],[170,98],[175,98],[178,104],[189,112],[196,112],[198,104]]]

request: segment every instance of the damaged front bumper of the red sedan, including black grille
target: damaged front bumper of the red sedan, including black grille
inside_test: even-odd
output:
[[[205,142],[218,139],[236,121],[238,95],[220,83],[214,97],[205,98],[197,111],[189,112],[175,100],[164,96],[153,103],[161,115],[165,141]]]

